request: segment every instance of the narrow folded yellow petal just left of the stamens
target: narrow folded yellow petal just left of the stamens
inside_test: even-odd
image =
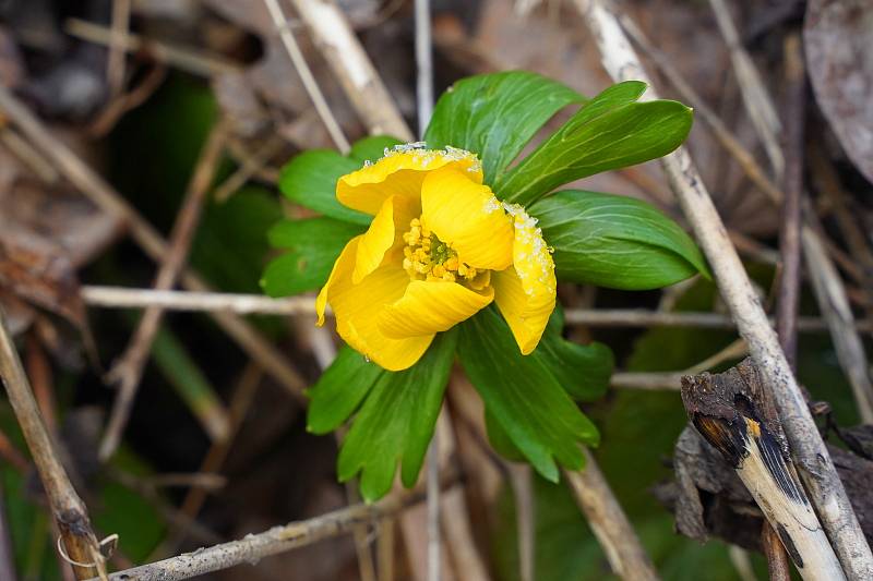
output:
[[[419,214],[421,214],[419,205],[408,198],[391,196],[385,199],[382,209],[358,242],[355,271],[351,274],[351,281],[355,285],[379,268],[392,247],[403,249],[403,233],[409,229],[409,222]],[[402,258],[398,256],[397,261]]]

